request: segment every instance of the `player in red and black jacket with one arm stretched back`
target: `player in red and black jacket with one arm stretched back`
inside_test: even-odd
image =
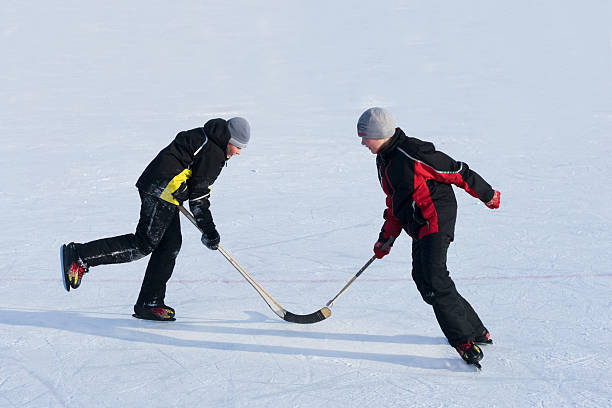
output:
[[[479,343],[492,343],[480,318],[455,288],[446,269],[454,238],[457,201],[451,185],[461,187],[487,207],[499,207],[500,193],[466,163],[434,145],[407,137],[382,108],[366,110],[357,123],[361,144],[376,154],[378,178],[387,195],[385,222],[374,254],[389,253],[402,229],[412,237],[412,278],[451,346],[468,364],[479,365]]]

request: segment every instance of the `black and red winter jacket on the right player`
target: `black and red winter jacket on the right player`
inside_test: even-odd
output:
[[[457,200],[451,184],[483,202],[494,190],[468,165],[436,150],[430,142],[407,137],[397,128],[376,157],[378,179],[387,195],[381,238],[402,228],[414,239],[435,232],[454,236]]]

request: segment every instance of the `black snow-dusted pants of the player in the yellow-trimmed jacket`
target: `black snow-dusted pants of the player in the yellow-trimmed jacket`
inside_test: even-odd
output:
[[[142,201],[136,233],[77,244],[90,267],[131,262],[151,254],[137,303],[161,306],[172,276],[182,236],[178,207],[139,191]]]

